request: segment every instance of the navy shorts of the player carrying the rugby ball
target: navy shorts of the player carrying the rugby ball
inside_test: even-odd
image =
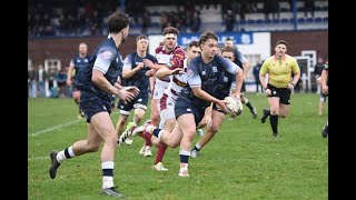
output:
[[[178,97],[176,104],[175,104],[175,114],[176,119],[178,119],[179,116],[185,114],[185,113],[192,113],[194,118],[196,120],[196,127],[198,123],[201,121],[205,114],[205,109],[206,107],[196,107],[192,104],[191,101]]]

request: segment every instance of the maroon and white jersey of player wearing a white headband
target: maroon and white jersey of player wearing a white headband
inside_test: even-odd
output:
[[[186,57],[184,49],[181,49],[179,46],[176,46],[169,52],[167,52],[166,50],[167,50],[166,46],[158,47],[156,49],[155,57],[157,59],[157,63],[166,64],[170,69],[175,69],[179,67],[182,68],[182,62]],[[160,99],[162,97],[165,90],[169,86],[169,82],[170,82],[169,77],[165,77],[162,79],[159,79],[156,77],[154,99]]]

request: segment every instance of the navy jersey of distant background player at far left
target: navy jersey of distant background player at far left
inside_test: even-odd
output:
[[[86,77],[86,68],[89,66],[90,56],[80,57],[77,54],[72,60],[71,64],[73,66],[73,69],[76,70],[75,77],[73,77],[73,83],[77,86],[82,86],[82,82]]]

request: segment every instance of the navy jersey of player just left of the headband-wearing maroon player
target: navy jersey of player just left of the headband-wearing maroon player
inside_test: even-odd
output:
[[[137,52],[128,54],[123,60],[123,69],[131,70],[137,67],[139,62],[144,62],[144,59],[149,59],[154,63],[157,63],[156,58],[149,53],[146,53],[145,58],[141,58]],[[146,72],[150,70],[147,66],[137,71],[132,77],[123,79],[121,81],[122,86],[135,86],[140,90],[140,93],[148,93],[149,89],[149,78]]]

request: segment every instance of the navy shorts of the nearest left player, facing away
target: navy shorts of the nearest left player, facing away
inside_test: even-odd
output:
[[[87,122],[90,123],[91,117],[98,112],[109,112],[110,114],[111,102],[83,91],[80,97],[80,109],[85,113]]]

